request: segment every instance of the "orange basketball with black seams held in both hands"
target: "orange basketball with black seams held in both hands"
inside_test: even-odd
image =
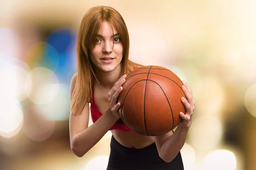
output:
[[[143,66],[125,78],[119,115],[134,132],[158,136],[173,130],[181,122],[180,112],[186,113],[181,102],[185,97],[180,78],[167,68]]]

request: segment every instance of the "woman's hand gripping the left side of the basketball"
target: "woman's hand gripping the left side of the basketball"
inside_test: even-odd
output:
[[[118,109],[120,107],[120,103],[116,103],[117,97],[122,91],[122,84],[125,82],[126,74],[120,77],[120,79],[113,85],[111,90],[108,92],[108,102],[111,107],[111,111],[116,118],[120,118]]]

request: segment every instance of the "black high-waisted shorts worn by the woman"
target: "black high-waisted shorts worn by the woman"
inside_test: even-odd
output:
[[[125,147],[112,136],[107,170],[184,170],[180,152],[167,163],[159,157],[155,142],[141,149]]]

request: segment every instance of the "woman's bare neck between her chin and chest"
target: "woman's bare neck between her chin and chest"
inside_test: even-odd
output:
[[[115,82],[120,78],[121,65],[115,68],[113,71],[105,72],[96,70],[96,75],[98,77],[97,83],[103,88],[111,89]]]

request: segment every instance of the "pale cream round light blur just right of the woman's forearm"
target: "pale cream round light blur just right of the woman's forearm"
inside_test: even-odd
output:
[[[200,116],[193,119],[188,134],[192,147],[198,150],[209,150],[216,147],[221,141],[222,135],[222,124],[214,116]]]

